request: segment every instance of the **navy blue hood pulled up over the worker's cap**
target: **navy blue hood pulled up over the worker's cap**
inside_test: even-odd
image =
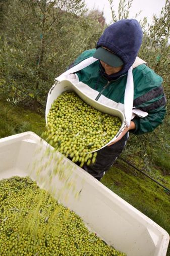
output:
[[[142,28],[135,19],[123,19],[108,26],[97,41],[98,47],[106,47],[124,62],[120,72],[109,77],[119,77],[127,73],[135,62],[142,44]]]

